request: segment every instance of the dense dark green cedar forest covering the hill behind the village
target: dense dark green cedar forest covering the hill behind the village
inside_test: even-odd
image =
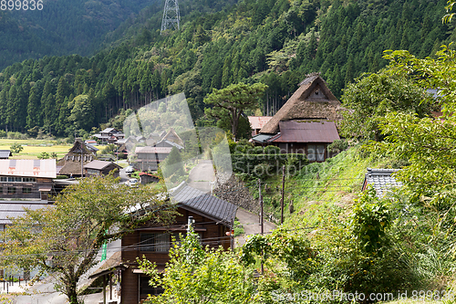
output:
[[[348,82],[386,65],[383,50],[407,49],[424,58],[442,43],[454,40],[454,27],[440,21],[445,3],[181,1],[181,31],[164,36],[160,35],[162,11],[152,5],[109,33],[104,50],[92,57],[30,58],[0,72],[0,128],[27,131],[38,127],[67,136],[98,128],[119,110],[137,109],[181,91],[193,118],[210,123],[202,118],[204,97],[213,88],[241,81],[269,86],[261,110],[273,115],[299,81],[315,71],[321,72],[340,97]],[[0,28],[5,22],[16,24],[11,16],[0,16]],[[58,22],[49,20],[49,26],[53,21]],[[86,31],[96,32],[98,27],[86,25],[75,38],[66,37],[62,29],[56,41],[71,40],[76,50],[89,46],[90,41],[78,37],[84,37]],[[36,56],[50,51],[46,48],[50,45],[35,32],[24,29],[24,33],[23,39],[29,35],[36,39],[31,40],[37,41],[36,46],[43,47],[36,50]],[[97,35],[92,34],[92,41]],[[12,49],[15,47],[19,46]]]

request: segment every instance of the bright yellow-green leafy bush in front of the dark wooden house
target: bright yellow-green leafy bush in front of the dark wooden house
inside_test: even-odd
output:
[[[151,286],[164,292],[150,296],[146,303],[252,303],[254,302],[254,269],[239,263],[239,257],[223,248],[202,248],[198,235],[191,232],[174,243],[170,262],[161,276],[155,264],[138,259],[148,274]]]

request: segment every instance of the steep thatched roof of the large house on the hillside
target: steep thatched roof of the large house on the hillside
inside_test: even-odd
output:
[[[339,121],[342,116],[339,100],[327,89],[326,81],[318,74],[304,79],[285,105],[275,113],[261,129],[261,133],[275,134],[279,131],[279,121],[300,119],[320,119]]]

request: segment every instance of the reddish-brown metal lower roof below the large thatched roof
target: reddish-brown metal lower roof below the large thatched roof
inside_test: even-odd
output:
[[[334,121],[280,121],[273,142],[334,142],[340,140]]]

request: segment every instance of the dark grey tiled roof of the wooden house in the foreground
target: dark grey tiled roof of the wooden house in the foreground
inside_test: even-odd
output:
[[[236,216],[237,206],[228,203],[211,194],[205,194],[185,182],[171,189],[171,199],[178,203],[181,208],[190,208],[215,221],[231,226]]]

